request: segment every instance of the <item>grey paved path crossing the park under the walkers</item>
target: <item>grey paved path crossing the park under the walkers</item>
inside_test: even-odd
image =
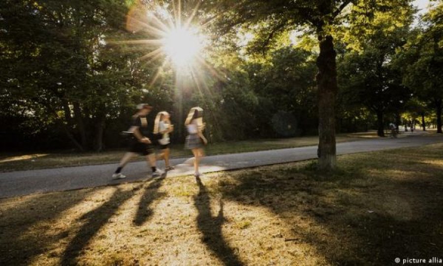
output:
[[[343,142],[337,144],[337,154],[422,146],[436,142],[443,142],[443,136],[415,134],[396,139],[385,138]],[[316,149],[316,146],[309,146],[208,156],[202,160],[203,166],[200,172],[205,173],[313,159],[316,158]],[[167,173],[167,177],[192,174],[191,158],[173,159],[171,162],[172,165],[177,166],[176,169]],[[159,162],[158,166],[163,168],[163,162]],[[145,162],[134,162],[128,164],[123,170],[123,173],[127,175],[126,179],[113,180],[111,174],[116,167],[117,164],[108,164],[0,173],[0,198],[114,185],[144,180],[151,176],[151,170]]]

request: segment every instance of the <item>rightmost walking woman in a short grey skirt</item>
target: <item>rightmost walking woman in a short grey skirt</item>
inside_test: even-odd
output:
[[[186,148],[190,149],[194,155],[194,176],[199,177],[200,172],[198,171],[198,166],[201,157],[203,157],[203,144],[206,145],[208,143],[202,133],[205,128],[205,124],[203,123],[203,109],[200,107],[191,108],[186,118],[185,126],[188,129]]]

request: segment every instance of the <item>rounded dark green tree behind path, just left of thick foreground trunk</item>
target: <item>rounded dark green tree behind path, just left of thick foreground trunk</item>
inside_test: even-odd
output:
[[[261,121],[257,121],[257,126],[262,136],[312,133],[318,118],[316,65],[310,52],[285,46],[269,52],[265,60],[246,63],[245,68],[259,106],[262,106],[257,110],[261,114],[257,117]],[[281,129],[278,129],[278,124],[281,124]],[[269,135],[271,132],[273,135]]]

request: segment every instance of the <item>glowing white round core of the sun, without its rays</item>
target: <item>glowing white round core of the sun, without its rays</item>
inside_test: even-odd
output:
[[[196,29],[174,28],[161,40],[162,50],[177,67],[192,66],[202,49],[203,38]]]

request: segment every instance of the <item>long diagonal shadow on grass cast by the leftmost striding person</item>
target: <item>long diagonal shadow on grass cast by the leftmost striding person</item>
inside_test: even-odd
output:
[[[136,190],[135,188],[122,191],[119,188],[112,194],[108,201],[84,214],[80,220],[85,220],[85,223],[67,245],[63,253],[61,265],[76,265],[77,258],[83,248],[88,245],[94,235],[108,222],[109,218],[114,215],[117,209],[134,195],[134,191]]]

